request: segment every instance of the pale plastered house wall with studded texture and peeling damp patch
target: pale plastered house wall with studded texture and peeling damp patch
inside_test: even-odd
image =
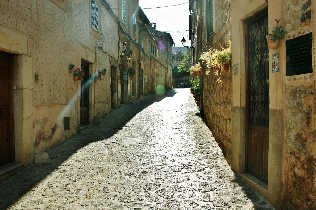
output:
[[[109,57],[118,60],[119,28],[105,6],[96,2],[98,31],[91,27],[91,1],[0,3],[0,48],[30,58],[15,59],[15,122],[26,113],[31,116],[27,119],[32,119],[24,119],[15,128],[16,161],[31,163],[34,153],[49,151],[76,135],[80,123],[80,82],[73,80],[69,63],[75,63],[76,68],[81,60],[90,63],[89,75],[108,69],[101,81],[89,87],[90,122],[93,116],[104,117],[109,113]],[[117,8],[117,1],[109,2]],[[38,82],[34,81],[34,73],[39,75]],[[21,109],[18,104],[23,105]],[[63,117],[70,117],[70,130],[63,130]]]

